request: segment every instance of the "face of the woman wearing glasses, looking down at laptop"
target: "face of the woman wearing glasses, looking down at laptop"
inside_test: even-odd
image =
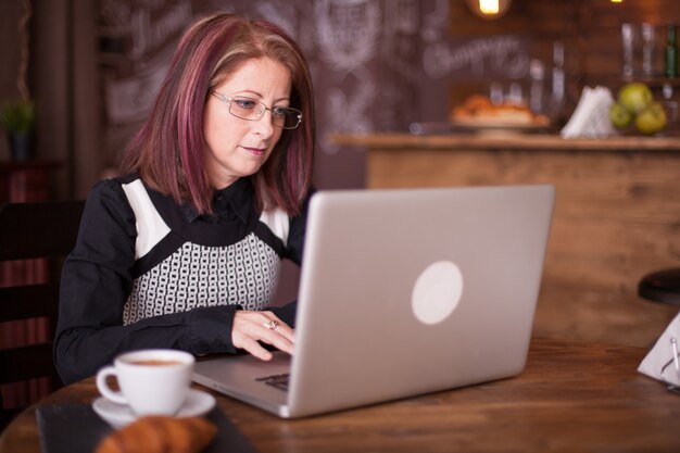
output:
[[[251,98],[268,109],[289,106],[290,78],[286,66],[274,60],[248,60],[213,91],[224,98]],[[205,103],[203,123],[205,169],[215,189],[256,173],[282,131],[272,123],[270,111],[265,111],[257,121],[241,119],[229,113],[227,102],[212,95]]]

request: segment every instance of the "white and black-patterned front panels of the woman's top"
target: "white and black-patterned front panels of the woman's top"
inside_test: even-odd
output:
[[[265,212],[252,225],[240,225],[244,230],[238,240],[205,244],[174,231],[141,180],[123,189],[136,216],[137,263],[151,262],[141,266],[134,281],[123,311],[124,325],[197,306],[239,304],[263,310],[269,304],[288,235],[289,219],[282,211]]]

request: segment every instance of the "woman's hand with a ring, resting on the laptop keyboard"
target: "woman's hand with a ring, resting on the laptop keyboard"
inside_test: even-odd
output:
[[[272,312],[237,310],[234,314],[231,342],[263,361],[272,360],[272,353],[259,341],[293,354],[295,331]]]

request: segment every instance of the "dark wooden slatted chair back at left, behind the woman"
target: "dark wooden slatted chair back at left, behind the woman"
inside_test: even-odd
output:
[[[62,386],[52,358],[61,266],[75,246],[84,205],[0,206],[0,430],[32,400]],[[30,394],[16,397],[22,389]],[[12,398],[3,401],[3,393]]]

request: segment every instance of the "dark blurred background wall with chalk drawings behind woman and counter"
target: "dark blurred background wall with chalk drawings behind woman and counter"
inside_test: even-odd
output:
[[[18,96],[27,59],[35,156],[55,161],[53,198],[83,198],[112,174],[178,36],[214,10],[274,22],[304,50],[316,90],[320,188],[364,186],[364,151],[332,144],[336,131],[445,122],[452,105],[493,86],[518,88],[526,99],[533,63],[542,70],[543,108],[558,126],[583,86],[621,81],[621,23],[655,26],[660,61],[665,24],[680,21],[676,0],[515,0],[495,21],[473,14],[467,0],[5,0],[0,102]],[[555,74],[564,87],[554,86]],[[550,105],[561,90],[564,98]],[[9,161],[3,136],[0,164]]]

